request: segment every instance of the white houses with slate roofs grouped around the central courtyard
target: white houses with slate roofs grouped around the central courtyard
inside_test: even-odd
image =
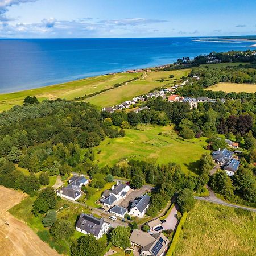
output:
[[[142,218],[149,207],[150,196],[146,193],[139,197],[138,200],[133,200],[130,209],[119,206],[118,204],[125,199],[129,190],[129,185],[117,181],[117,184],[113,185],[111,190],[104,191],[100,201],[104,207],[109,209],[109,213],[113,213],[118,217],[123,218],[125,214],[130,214]]]

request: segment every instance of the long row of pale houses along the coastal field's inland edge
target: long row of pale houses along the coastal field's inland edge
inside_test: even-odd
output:
[[[134,97],[132,100],[124,101],[118,105],[102,108],[102,111],[106,111],[108,113],[113,113],[115,110],[128,109],[128,108],[130,108],[131,105],[137,104],[138,101],[142,102],[142,101],[148,100],[149,98],[154,98],[154,97],[157,98],[158,96],[160,96],[162,98],[166,98],[167,94],[172,92],[173,90],[174,89],[170,89],[170,88],[166,88],[166,89],[159,90],[159,91],[156,90],[155,92],[145,94],[144,96]],[[137,113],[138,113],[138,109],[136,109],[134,111],[137,111]]]

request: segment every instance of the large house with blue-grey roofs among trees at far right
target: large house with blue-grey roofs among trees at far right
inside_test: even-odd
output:
[[[237,171],[240,162],[233,157],[234,152],[224,148],[212,153],[213,162],[221,166],[228,176],[233,176]]]

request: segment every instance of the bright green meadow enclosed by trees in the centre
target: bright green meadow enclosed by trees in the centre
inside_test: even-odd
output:
[[[195,162],[207,152],[203,148],[207,145],[206,138],[183,140],[172,126],[141,125],[139,130],[125,132],[125,137],[106,138],[94,148],[95,152],[100,151],[100,154],[95,154],[95,163],[104,167],[126,159],[141,159],[156,164],[174,162],[188,173],[196,171]],[[158,135],[160,132],[162,135]]]

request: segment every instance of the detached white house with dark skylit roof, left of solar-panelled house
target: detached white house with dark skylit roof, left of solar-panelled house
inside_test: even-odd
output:
[[[104,221],[104,218],[98,219],[92,214],[81,213],[79,220],[76,222],[76,230],[83,234],[92,234],[96,239],[100,239],[108,232],[110,224]]]

